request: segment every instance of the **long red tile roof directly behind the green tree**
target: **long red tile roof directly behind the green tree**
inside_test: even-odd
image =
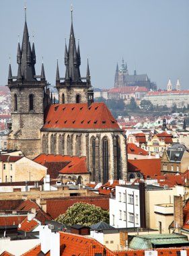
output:
[[[109,210],[109,196],[107,195],[95,195],[86,197],[62,197],[56,199],[46,199],[46,212],[53,219],[59,217],[61,214],[65,214],[67,209],[77,202],[85,202],[102,207],[104,210]]]

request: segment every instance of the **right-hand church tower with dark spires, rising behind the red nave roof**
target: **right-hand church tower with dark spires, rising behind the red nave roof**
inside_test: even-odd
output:
[[[73,32],[73,10],[71,9],[71,32],[69,48],[65,42],[65,77],[59,75],[59,64],[56,69],[56,89],[59,93],[59,103],[85,103],[93,102],[93,89],[90,83],[89,67],[87,64],[87,76],[81,77],[79,66],[81,65],[79,42],[76,47]],[[85,80],[84,82],[82,80]],[[61,82],[63,80],[63,82]]]

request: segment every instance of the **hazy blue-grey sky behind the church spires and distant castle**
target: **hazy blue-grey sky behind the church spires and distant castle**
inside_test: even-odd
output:
[[[189,89],[189,1],[188,0],[1,0],[0,1],[0,85],[7,84],[9,55],[13,75],[17,75],[17,35],[22,41],[24,5],[27,23],[36,47],[36,74],[42,56],[46,79],[53,86],[56,59],[65,76],[65,38],[69,44],[70,6],[73,26],[80,39],[81,76],[87,57],[91,83],[96,88],[113,88],[116,63],[122,57],[128,72],[147,73],[158,88],[169,77]]]

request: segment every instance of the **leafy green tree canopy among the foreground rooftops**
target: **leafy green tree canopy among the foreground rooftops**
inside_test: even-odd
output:
[[[93,204],[74,203],[65,214],[60,215],[55,221],[69,226],[73,224],[91,226],[100,221],[109,224],[109,212]]]

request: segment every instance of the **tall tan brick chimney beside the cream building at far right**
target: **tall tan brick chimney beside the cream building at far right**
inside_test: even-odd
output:
[[[180,233],[183,226],[183,202],[182,196],[174,195],[174,232]]]

